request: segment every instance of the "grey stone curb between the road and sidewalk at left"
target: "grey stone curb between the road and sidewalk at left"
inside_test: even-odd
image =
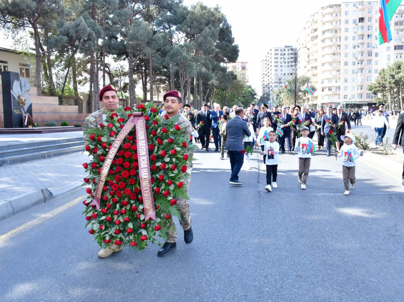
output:
[[[80,187],[82,187],[82,183],[68,185],[67,187],[63,187],[54,192],[50,192],[48,188],[44,188],[42,190],[31,191],[27,194],[16,196],[13,199],[0,201],[0,221],[37,206],[38,204],[62,196]]]

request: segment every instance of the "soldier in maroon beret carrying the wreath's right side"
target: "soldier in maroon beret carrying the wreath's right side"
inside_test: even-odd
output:
[[[167,92],[164,97],[164,105],[166,107],[166,112],[167,115],[170,117],[170,119],[177,119],[175,121],[176,124],[178,124],[181,129],[186,129],[186,132],[188,135],[191,135],[192,132],[192,124],[188,119],[183,117],[183,115],[180,114],[179,109],[182,106],[182,99],[181,99],[181,93],[178,91],[172,90]],[[194,155],[194,150],[189,150],[188,155],[191,158]],[[184,179],[181,180],[184,182],[184,188],[186,193],[188,194],[189,186],[191,184],[191,174],[190,174],[190,162],[187,163],[187,172],[184,175]],[[192,242],[194,238],[194,234],[192,232],[192,227],[191,227],[191,216],[189,213],[189,203],[188,200],[184,198],[179,198],[177,200],[177,207],[178,210],[181,214],[181,227],[184,229],[184,241],[186,244],[189,244]],[[175,227],[174,222],[171,222],[168,225],[168,233],[167,233],[167,240],[162,246],[162,248],[158,251],[157,255],[158,256],[164,256],[167,254],[170,250],[174,249],[177,246],[177,231],[173,228]]]

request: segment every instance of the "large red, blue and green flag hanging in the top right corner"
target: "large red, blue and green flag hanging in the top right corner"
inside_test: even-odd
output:
[[[402,0],[379,0],[379,45],[392,40],[390,20]]]

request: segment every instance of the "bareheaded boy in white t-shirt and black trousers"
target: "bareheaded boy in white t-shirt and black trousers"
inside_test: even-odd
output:
[[[271,176],[272,176],[272,187],[277,188],[276,177],[278,176],[278,164],[279,164],[279,144],[276,142],[276,132],[274,130],[269,131],[269,142],[265,141],[264,151],[261,155],[266,154],[265,166],[267,168],[267,185],[265,190],[271,192]]]

